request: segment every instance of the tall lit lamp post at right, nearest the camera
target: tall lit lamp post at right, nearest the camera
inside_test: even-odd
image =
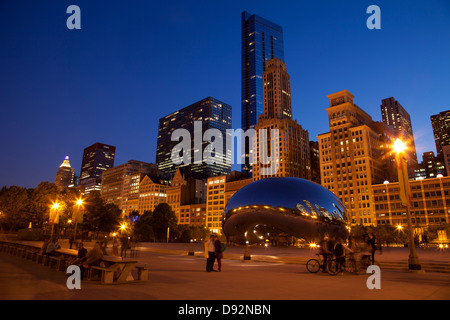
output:
[[[420,265],[419,257],[416,253],[416,247],[414,244],[414,232],[411,223],[411,189],[409,187],[409,178],[408,178],[408,169],[407,162],[405,159],[405,144],[397,139],[393,146],[395,152],[395,161],[397,163],[397,173],[398,173],[398,182],[400,187],[400,199],[402,200],[403,206],[406,207],[406,217],[408,222],[408,230],[409,230],[409,270],[421,270],[422,267]]]

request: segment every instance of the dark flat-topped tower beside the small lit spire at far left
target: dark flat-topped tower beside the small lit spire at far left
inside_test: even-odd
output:
[[[84,149],[81,163],[80,185],[84,192],[100,191],[103,171],[114,167],[116,147],[95,143]]]

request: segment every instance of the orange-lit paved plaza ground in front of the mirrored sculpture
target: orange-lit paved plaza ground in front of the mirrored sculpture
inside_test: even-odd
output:
[[[370,275],[330,276],[309,273],[303,261],[314,251],[298,248],[244,248],[224,253],[222,272],[205,272],[202,244],[188,256],[189,244],[142,244],[139,260],[149,268],[147,282],[106,286],[82,281],[81,290],[66,287],[67,276],[35,262],[0,253],[0,299],[24,300],[304,300],[304,299],[450,299],[450,273],[410,273],[381,267],[381,289],[368,289]],[[449,251],[418,250],[421,261],[450,263]],[[383,250],[377,260],[407,261],[407,248]]]

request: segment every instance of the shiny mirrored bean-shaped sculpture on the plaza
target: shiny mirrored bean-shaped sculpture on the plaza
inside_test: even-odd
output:
[[[347,238],[348,212],[332,192],[300,178],[267,178],[241,188],[228,201],[222,230],[229,241],[260,242],[270,233],[306,241],[324,234]]]

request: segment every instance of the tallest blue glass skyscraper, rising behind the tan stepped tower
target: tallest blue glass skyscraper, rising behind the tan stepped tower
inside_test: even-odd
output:
[[[260,16],[244,11],[241,19],[242,107],[241,126],[254,128],[264,110],[263,72],[272,58],[284,62],[283,28]],[[245,146],[243,172],[251,172],[249,143]]]

